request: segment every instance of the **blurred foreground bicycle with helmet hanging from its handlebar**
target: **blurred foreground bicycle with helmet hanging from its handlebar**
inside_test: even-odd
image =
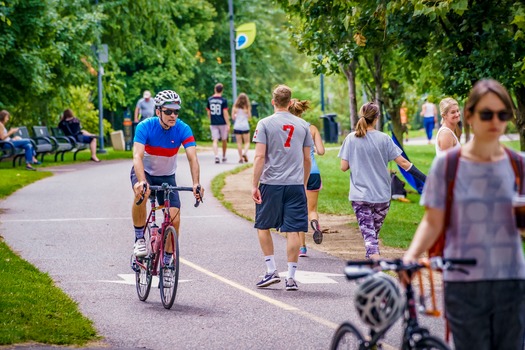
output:
[[[420,260],[405,264],[402,260],[349,261],[345,274],[349,280],[363,279],[359,285],[354,305],[361,320],[370,328],[365,338],[351,323],[343,323],[332,338],[331,349],[382,349],[381,339],[403,315],[403,338],[401,349],[448,350],[441,339],[432,336],[428,329],[421,327],[417,320],[416,301],[412,288],[412,277],[423,268],[433,270],[456,270],[468,273],[457,265],[475,265],[475,259]],[[397,281],[381,271],[404,272],[410,281],[401,295]]]

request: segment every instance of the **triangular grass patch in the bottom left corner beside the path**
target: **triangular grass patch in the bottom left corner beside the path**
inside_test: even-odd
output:
[[[0,242],[0,345],[85,345],[99,337],[51,278]]]

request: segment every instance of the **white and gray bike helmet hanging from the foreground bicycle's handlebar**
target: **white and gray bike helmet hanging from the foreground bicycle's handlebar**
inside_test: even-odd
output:
[[[396,281],[382,272],[367,277],[359,285],[354,305],[361,320],[376,332],[391,326],[404,310]]]

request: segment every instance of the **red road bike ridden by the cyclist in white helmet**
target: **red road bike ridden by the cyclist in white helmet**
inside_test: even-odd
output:
[[[151,195],[149,197],[151,209],[144,226],[144,239],[148,253],[145,257],[131,256],[131,267],[135,271],[135,285],[140,301],[146,301],[151,289],[153,276],[159,276],[160,299],[166,309],[170,309],[177,295],[179,283],[179,240],[169,214],[169,194],[175,191],[191,191],[192,187],[177,187],[163,183],[161,186],[149,186]],[[156,206],[157,191],[164,191],[164,204]],[[146,187],[142,191],[142,198],[135,204],[140,205],[144,200]],[[196,199],[195,207],[202,202],[200,186],[197,187],[200,198]],[[156,211],[162,210],[164,219],[160,228],[156,224]],[[169,262],[164,261],[165,252],[171,253]]]

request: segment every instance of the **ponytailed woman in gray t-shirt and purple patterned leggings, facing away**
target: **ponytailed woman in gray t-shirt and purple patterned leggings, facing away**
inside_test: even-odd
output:
[[[365,257],[378,259],[379,231],[390,208],[391,188],[388,162],[393,160],[415,178],[425,175],[401,154],[392,138],[375,129],[379,107],[364,104],[359,111],[356,131],[350,133],[339,151],[341,170],[350,169],[350,191],[357,223],[365,242]]]

